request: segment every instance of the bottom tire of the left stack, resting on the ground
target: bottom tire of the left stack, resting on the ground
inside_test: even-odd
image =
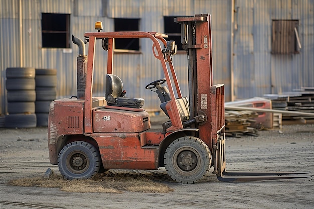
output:
[[[6,128],[35,128],[35,114],[9,114],[5,116]]]

